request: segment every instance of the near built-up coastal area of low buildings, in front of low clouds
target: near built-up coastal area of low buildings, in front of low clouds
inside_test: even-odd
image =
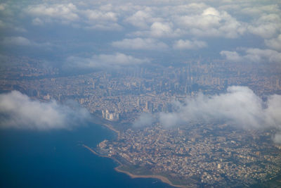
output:
[[[118,140],[105,140],[98,152],[123,158],[146,174],[165,175],[186,186],[249,187],[281,172],[281,147],[268,132],[235,130],[228,125],[160,125],[129,129]]]

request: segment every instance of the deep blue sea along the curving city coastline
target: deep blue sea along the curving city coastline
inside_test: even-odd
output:
[[[115,136],[93,123],[74,130],[0,130],[0,187],[171,187],[117,173],[115,161],[81,146]]]

